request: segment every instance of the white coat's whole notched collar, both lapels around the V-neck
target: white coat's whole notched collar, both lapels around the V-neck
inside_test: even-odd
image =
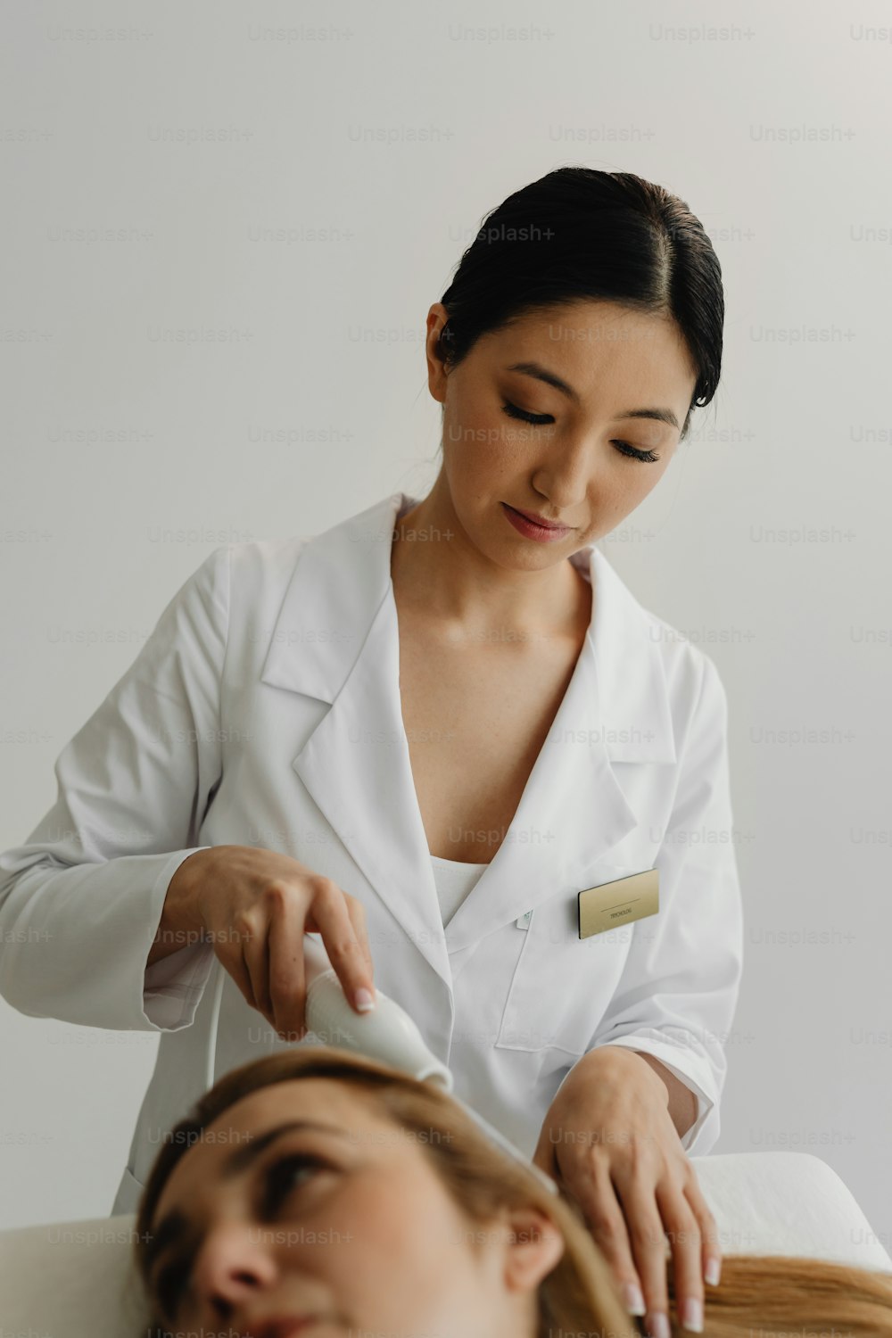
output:
[[[586,875],[637,824],[612,761],[674,761],[651,619],[594,546],[574,554],[592,619],[514,820],[443,929],[403,724],[391,543],[401,492],[310,541],[262,681],[330,702],[293,767],[433,970]]]

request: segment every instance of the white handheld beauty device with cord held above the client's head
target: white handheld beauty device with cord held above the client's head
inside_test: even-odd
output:
[[[325,946],[318,938],[309,934],[304,935],[304,962],[306,978],[306,1026],[313,1036],[318,1037],[322,1045],[353,1050],[357,1054],[365,1054],[370,1060],[378,1060],[381,1064],[389,1064],[395,1069],[409,1073],[419,1081],[436,1082],[449,1093],[451,1098],[480,1125],[483,1132],[503,1152],[507,1152],[515,1161],[522,1161],[552,1193],[558,1193],[558,1185],[551,1176],[546,1175],[540,1167],[534,1165],[514,1143],[506,1139],[500,1129],[496,1129],[495,1125],[484,1120],[481,1115],[455,1094],[452,1090],[453,1080],[451,1070],[431,1053],[412,1018],[395,999],[389,998],[381,990],[376,990],[374,1008],[369,1013],[357,1013],[344,994],[337,973],[329,962]],[[222,963],[218,962],[207,1050],[209,1088],[214,1085],[217,1024],[225,977],[226,971]]]

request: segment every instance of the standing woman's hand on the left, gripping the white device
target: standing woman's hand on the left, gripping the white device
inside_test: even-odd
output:
[[[213,846],[182,862],[167,895],[282,1040],[300,1041],[306,1032],[305,933],[321,934],[353,1009],[374,1005],[365,907],[300,860],[253,846]],[[368,991],[365,1006],[360,990]]]

